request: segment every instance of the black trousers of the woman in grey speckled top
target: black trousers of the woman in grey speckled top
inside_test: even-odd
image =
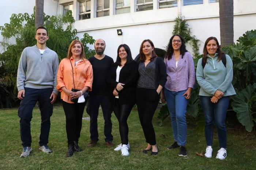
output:
[[[140,118],[140,124],[146,138],[146,142],[155,145],[155,131],[152,124],[152,119],[157,109],[160,95],[155,89],[136,89],[136,103]]]

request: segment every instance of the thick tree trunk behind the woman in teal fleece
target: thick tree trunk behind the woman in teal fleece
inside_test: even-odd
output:
[[[233,0],[219,0],[219,26],[221,46],[234,43],[234,3]]]

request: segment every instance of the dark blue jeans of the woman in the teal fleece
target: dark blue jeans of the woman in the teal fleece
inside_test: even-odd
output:
[[[205,137],[207,146],[212,146],[213,125],[218,131],[219,147],[227,147],[226,113],[229,106],[229,97],[222,97],[217,103],[211,102],[211,97],[200,96],[201,105],[204,111]]]

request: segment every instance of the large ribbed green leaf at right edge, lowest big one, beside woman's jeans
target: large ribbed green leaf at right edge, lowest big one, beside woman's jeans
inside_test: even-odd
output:
[[[251,104],[255,102],[254,87],[248,85],[246,89],[237,92],[233,99],[232,107],[237,112],[238,121],[245,126],[246,131],[251,132],[253,127],[253,117]]]

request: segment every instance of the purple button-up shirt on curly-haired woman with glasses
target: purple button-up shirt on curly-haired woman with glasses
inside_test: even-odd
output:
[[[172,59],[164,59],[167,72],[167,82],[165,88],[178,92],[182,90],[187,90],[189,87],[193,88],[195,84],[195,66],[193,58],[189,52],[186,52],[178,62],[176,68],[176,60],[173,54]]]

